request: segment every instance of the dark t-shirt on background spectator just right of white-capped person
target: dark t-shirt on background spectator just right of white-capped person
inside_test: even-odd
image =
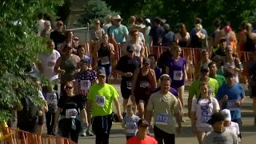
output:
[[[165,34],[165,30],[162,26],[153,26],[150,29],[150,37],[152,37],[153,40],[153,46],[159,46],[160,43],[158,43],[158,38],[163,38]]]

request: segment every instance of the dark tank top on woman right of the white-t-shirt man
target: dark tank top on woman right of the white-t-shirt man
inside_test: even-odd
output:
[[[75,78],[75,71],[77,69],[77,62],[74,59],[74,55],[70,58],[62,58],[60,68],[65,70],[65,73],[61,75],[61,82],[70,82]]]

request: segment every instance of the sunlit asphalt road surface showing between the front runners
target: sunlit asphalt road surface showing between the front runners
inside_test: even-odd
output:
[[[114,87],[118,90],[120,94],[120,86],[114,84]],[[185,91],[185,105],[188,98],[188,92]],[[120,94],[119,102],[122,105],[122,96]],[[254,126],[254,113],[251,109],[252,100],[250,97],[246,97],[246,101],[242,105],[242,143],[252,144],[256,138],[256,127]],[[115,108],[114,108],[115,109]],[[185,113],[187,109],[185,108]],[[196,136],[192,133],[190,128],[190,119],[186,117],[186,122],[182,123],[182,134],[178,134],[176,137],[177,144],[195,144],[198,143]],[[152,134],[152,133],[151,133]],[[94,144],[95,137],[81,137],[79,138],[79,144]],[[111,134],[110,134],[110,144],[122,144],[126,143],[126,137],[122,126],[120,123],[113,123]]]

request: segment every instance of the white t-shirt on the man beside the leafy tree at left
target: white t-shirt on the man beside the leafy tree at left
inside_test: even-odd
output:
[[[54,66],[57,59],[61,57],[57,50],[51,54],[40,54],[38,59],[42,63],[43,76],[50,80],[58,79],[58,74],[54,72]]]

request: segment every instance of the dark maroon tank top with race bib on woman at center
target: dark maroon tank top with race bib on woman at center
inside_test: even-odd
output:
[[[142,69],[139,70],[137,82],[135,84],[134,96],[140,98],[150,98],[154,91],[154,78],[149,70],[148,74],[142,75]]]

